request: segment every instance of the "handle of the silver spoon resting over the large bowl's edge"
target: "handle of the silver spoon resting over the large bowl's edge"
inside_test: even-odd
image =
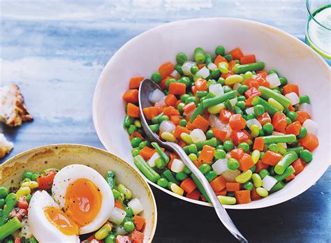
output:
[[[165,144],[167,144],[169,148],[171,148],[176,154],[178,154],[180,159],[182,159],[183,163],[193,172],[193,174],[198,178],[201,184],[203,184],[203,188],[205,189],[210,200],[212,201],[212,205],[214,205],[216,214],[217,216],[219,216],[219,219],[221,220],[223,225],[226,226],[226,228],[230,231],[231,234],[233,234],[234,237],[237,238],[237,240],[239,240],[240,242],[248,242],[237,229],[237,227],[235,227],[235,224],[230,219],[228,212],[226,212],[226,209],[224,209],[223,205],[219,201],[219,198],[217,198],[216,194],[214,193],[214,190],[212,189],[212,186],[210,186],[206,177],[203,175],[202,172],[200,172],[196,165],[192,163],[191,159],[189,159],[189,156],[186,155],[182,147],[177,145],[177,143],[175,142],[165,142]]]

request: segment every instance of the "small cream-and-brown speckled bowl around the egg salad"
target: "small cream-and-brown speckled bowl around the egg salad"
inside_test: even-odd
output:
[[[142,216],[146,219],[144,242],[152,242],[156,230],[157,210],[154,195],[142,176],[128,163],[102,149],[84,145],[46,145],[28,150],[8,159],[0,165],[0,185],[9,188],[18,186],[25,170],[41,171],[46,168],[64,168],[66,165],[82,164],[94,168],[101,175],[114,170],[117,182],[125,184],[144,206]]]

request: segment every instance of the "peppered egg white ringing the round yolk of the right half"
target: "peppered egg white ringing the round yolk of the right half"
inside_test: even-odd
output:
[[[114,196],[105,178],[96,170],[86,165],[68,165],[57,172],[52,186],[54,200],[61,209],[64,209],[66,204],[65,195],[68,186],[77,179],[89,179],[98,187],[102,195],[101,208],[95,219],[86,226],[80,227],[80,234],[91,233],[103,226],[112,214],[115,206]]]

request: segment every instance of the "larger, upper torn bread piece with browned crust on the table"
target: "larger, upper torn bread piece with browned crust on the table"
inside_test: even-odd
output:
[[[0,121],[8,126],[21,126],[23,121],[32,121],[17,84],[0,87]]]

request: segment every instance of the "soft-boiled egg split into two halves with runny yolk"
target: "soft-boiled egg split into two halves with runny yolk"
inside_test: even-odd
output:
[[[52,196],[37,191],[29,205],[29,226],[39,242],[79,242],[78,235],[103,226],[115,205],[105,178],[86,165],[59,170]]]

